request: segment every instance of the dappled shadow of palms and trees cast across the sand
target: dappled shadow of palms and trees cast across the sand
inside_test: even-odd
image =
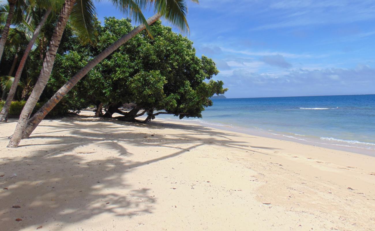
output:
[[[0,177],[0,223],[4,230],[18,230],[22,227],[35,229],[49,223],[54,223],[58,229],[102,213],[114,216],[152,213],[155,198],[150,194],[151,189],[134,190],[134,187],[126,184],[125,178],[131,175],[133,169],[187,154],[190,149],[205,144],[263,154],[266,153],[259,149],[273,149],[251,147],[246,142],[227,137],[228,134],[231,137],[237,134],[223,133],[200,125],[167,122],[145,125],[108,119],[90,122],[90,119],[84,117],[61,119],[60,122],[62,123],[47,126],[53,127],[53,131],[36,131],[30,136],[31,144],[20,146],[27,151],[27,156],[12,158],[7,155],[7,159],[1,159],[0,173],[5,175]],[[154,136],[151,137],[150,133],[126,132],[118,129],[119,126],[147,127]],[[168,133],[166,136],[162,133],[163,128],[180,131],[175,134]],[[58,132],[61,131],[68,131],[68,134],[59,136]],[[197,140],[194,134],[204,136]],[[32,144],[37,143],[33,140],[40,139],[47,142]],[[86,156],[95,150],[74,151],[75,148],[82,149],[91,144],[105,147],[112,154],[104,159],[87,161]],[[160,156],[154,159],[133,162],[125,157],[135,154],[124,148],[124,145],[166,147],[172,148],[172,151],[168,154],[160,153]],[[10,153],[11,150],[8,149],[7,152]],[[13,205],[21,208],[12,208]],[[33,212],[34,210],[38,213]],[[17,218],[23,221],[15,221]]]

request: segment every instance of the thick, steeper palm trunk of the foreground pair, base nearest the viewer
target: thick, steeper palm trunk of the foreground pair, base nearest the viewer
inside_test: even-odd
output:
[[[48,82],[49,76],[51,75],[51,71],[53,68],[53,64],[55,62],[57,48],[58,45],[60,45],[60,40],[63,35],[66,23],[68,22],[69,15],[72,12],[74,3],[75,0],[65,0],[62,11],[60,12],[60,17],[57,21],[57,25],[52,34],[51,41],[49,42],[48,51],[44,58],[42,70],[40,71],[40,75],[34,86],[34,89],[31,92],[30,97],[28,98],[21,112],[20,119],[18,119],[16,129],[7,146],[8,148],[15,148],[20,143],[22,134],[27,125],[27,120],[30,117],[31,112],[33,112],[33,109],[37,101],[39,100],[39,97],[42,94],[44,87]]]

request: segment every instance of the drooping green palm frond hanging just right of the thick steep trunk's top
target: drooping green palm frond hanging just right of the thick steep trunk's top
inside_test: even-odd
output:
[[[77,0],[70,19],[76,34],[84,43],[95,41],[96,8],[92,0]]]

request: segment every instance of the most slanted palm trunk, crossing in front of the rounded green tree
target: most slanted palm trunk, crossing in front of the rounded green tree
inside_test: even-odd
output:
[[[160,14],[155,14],[151,18],[147,20],[147,24],[150,25],[161,17]],[[127,33],[126,35],[122,36],[118,39],[114,44],[110,45],[104,51],[102,51],[98,56],[96,56],[93,60],[87,63],[80,71],[77,72],[64,86],[62,86],[53,96],[48,100],[47,103],[43,105],[27,123],[27,127],[23,134],[23,139],[26,139],[30,136],[30,134],[34,131],[37,125],[42,121],[42,119],[50,112],[54,106],[80,81],[95,65],[105,59],[108,55],[110,55],[113,51],[115,51],[118,47],[122,44],[127,42],[129,39],[133,38],[136,34],[141,32],[145,29],[145,25],[140,25]]]

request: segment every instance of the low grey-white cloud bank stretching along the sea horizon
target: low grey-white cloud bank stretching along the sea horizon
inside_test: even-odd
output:
[[[257,73],[236,69],[217,76],[229,88],[228,97],[273,97],[293,95],[374,94],[375,69],[294,69],[282,73]]]

